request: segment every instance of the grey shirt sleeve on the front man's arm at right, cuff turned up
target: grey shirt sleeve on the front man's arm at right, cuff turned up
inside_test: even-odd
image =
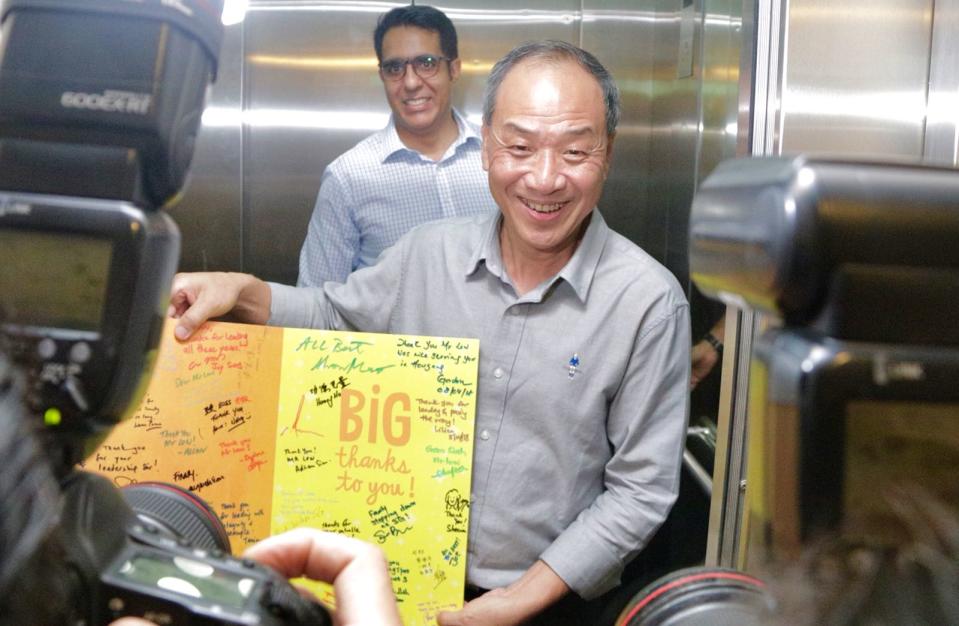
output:
[[[636,337],[607,416],[605,490],[543,552],[577,594],[619,584],[625,564],[666,519],[679,490],[689,395],[685,303]]]

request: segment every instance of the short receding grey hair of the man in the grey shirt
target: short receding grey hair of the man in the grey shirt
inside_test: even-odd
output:
[[[483,94],[483,124],[490,126],[493,113],[496,110],[496,96],[503,79],[520,61],[527,59],[544,59],[548,61],[572,60],[589,72],[603,90],[603,100],[606,103],[606,134],[616,132],[619,123],[619,89],[613,81],[612,75],[603,67],[592,54],[582,48],[577,48],[565,41],[535,41],[520,44],[510,50],[506,56],[496,62],[489,78],[486,80],[486,91]]]

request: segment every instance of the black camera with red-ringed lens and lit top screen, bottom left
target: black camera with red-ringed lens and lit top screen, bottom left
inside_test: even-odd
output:
[[[88,472],[61,487],[60,530],[75,574],[67,623],[126,615],[161,626],[332,623],[275,571],[231,556],[219,520],[192,494],[162,483],[121,492]]]

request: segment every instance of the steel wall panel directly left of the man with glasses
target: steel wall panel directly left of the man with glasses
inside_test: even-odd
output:
[[[244,56],[244,269],[294,283],[323,168],[387,120],[360,3],[251,4]]]

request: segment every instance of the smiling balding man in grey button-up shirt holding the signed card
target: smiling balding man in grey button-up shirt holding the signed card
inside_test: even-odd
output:
[[[617,119],[615,85],[592,55],[520,46],[494,67],[484,107],[498,215],[414,229],[342,285],[175,281],[181,339],[230,310],[284,326],[479,338],[467,562],[479,591],[441,614],[444,626],[537,614],[591,623],[570,599],[616,586],[675,500],[688,306],[595,208]]]

